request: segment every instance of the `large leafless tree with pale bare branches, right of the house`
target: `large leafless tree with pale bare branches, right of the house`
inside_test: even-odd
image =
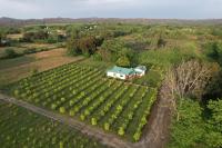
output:
[[[196,60],[183,61],[168,70],[165,85],[170,95],[179,98],[192,96],[201,98],[206,85],[219,67]]]

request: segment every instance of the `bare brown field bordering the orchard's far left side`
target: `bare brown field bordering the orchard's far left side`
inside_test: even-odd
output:
[[[1,60],[0,86],[14,82],[31,75],[32,70],[44,71],[64,63],[83,59],[83,57],[67,57],[63,48],[33,53],[20,59]]]

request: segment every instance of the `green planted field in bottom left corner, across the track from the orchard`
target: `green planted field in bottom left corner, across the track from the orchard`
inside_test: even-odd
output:
[[[0,141],[2,148],[107,148],[80,131],[0,101]]]

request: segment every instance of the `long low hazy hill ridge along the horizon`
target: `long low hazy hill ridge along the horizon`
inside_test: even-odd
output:
[[[222,24],[222,19],[180,20],[180,19],[119,19],[119,18],[46,18],[46,19],[13,19],[0,18],[0,26],[26,26],[46,23],[73,22],[122,22],[122,23],[175,23],[175,24]]]

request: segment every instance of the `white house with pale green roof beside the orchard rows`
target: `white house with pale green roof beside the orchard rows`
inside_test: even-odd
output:
[[[145,66],[138,66],[135,68],[123,68],[114,66],[112,69],[107,71],[107,76],[125,80],[125,79],[142,77],[145,75],[145,71],[147,71]]]

